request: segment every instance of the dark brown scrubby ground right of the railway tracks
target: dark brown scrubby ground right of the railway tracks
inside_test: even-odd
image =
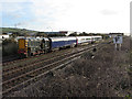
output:
[[[129,37],[121,51],[114,51],[113,44],[105,44],[9,97],[132,97],[130,48]]]

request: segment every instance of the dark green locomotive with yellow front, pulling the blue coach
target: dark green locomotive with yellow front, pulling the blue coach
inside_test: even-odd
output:
[[[50,51],[50,41],[45,37],[28,37],[19,40],[20,57],[29,57]]]

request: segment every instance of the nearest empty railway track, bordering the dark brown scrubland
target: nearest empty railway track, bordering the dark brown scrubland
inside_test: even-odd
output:
[[[51,69],[57,68],[58,66],[62,66],[62,64],[73,61],[74,58],[80,56],[82,53],[85,53],[89,50],[92,50],[92,47],[95,47],[95,46],[82,48],[77,52],[69,53],[67,55],[65,54],[64,57],[56,58],[57,61],[55,59],[54,62],[53,62],[53,59],[51,59],[47,64],[45,64],[44,61],[35,63],[32,65],[32,67],[35,66],[35,68],[29,67],[30,68],[29,70],[23,69],[22,73],[21,73],[21,70],[11,73],[11,74],[9,73],[8,76],[10,75],[10,77],[7,78],[6,80],[3,80],[2,84],[0,84],[3,86],[3,92],[2,92],[3,96],[11,91],[18,90],[18,88],[21,88],[22,86],[26,86],[26,85],[31,84],[31,81],[38,79],[42,75],[51,72]],[[6,77],[8,77],[8,76],[6,76]]]

